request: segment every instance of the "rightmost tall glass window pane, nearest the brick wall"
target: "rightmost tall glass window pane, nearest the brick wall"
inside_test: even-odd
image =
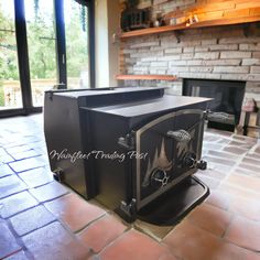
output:
[[[67,88],[88,88],[88,9],[75,0],[65,0],[64,9]]]

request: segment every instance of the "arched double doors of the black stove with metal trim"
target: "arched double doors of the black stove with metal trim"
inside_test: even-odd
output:
[[[203,111],[162,116],[136,132],[137,209],[196,172],[201,159]]]

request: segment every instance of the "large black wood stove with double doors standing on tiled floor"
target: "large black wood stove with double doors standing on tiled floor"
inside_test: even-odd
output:
[[[163,88],[45,93],[54,177],[122,218],[172,225],[208,195],[201,161],[207,98]]]

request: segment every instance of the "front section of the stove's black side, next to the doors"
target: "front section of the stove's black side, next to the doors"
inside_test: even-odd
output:
[[[88,110],[89,111],[89,110]],[[87,116],[87,112],[83,112]],[[130,202],[133,196],[132,163],[128,150],[118,144],[119,138],[129,132],[126,118],[106,112],[89,111],[91,134],[93,170],[96,180],[96,199],[105,206],[117,209],[121,201]]]

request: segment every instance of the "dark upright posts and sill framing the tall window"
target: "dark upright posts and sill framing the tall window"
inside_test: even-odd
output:
[[[25,116],[34,112],[42,112],[42,107],[34,107],[32,101],[32,89],[30,78],[30,64],[28,51],[26,21],[24,12],[24,0],[14,1],[14,26],[17,39],[18,69],[22,93],[22,108],[0,110],[0,118],[11,116]],[[61,88],[67,88],[66,72],[66,37],[64,22],[64,1],[54,0],[54,19],[56,32],[56,62],[57,82]],[[89,46],[89,84],[90,88],[96,87],[95,75],[95,2],[75,0],[88,8],[88,46]]]

